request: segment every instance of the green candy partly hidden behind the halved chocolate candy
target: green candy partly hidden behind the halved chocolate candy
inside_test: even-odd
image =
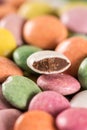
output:
[[[37,51],[41,51],[41,49],[35,46],[24,45],[13,52],[13,59],[20,68],[27,72],[32,72],[32,70],[27,66],[26,60],[31,54]]]

